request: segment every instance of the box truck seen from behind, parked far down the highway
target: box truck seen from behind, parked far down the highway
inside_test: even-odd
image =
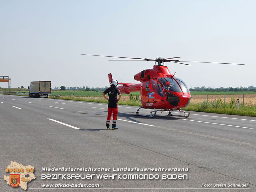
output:
[[[29,97],[48,98],[51,94],[51,81],[31,81],[28,89]]]

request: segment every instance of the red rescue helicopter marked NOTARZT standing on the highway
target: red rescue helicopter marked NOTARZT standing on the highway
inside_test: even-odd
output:
[[[88,55],[88,54],[82,54]],[[115,57],[115,56],[104,56],[104,55],[92,55],[92,56],[101,56],[101,57]],[[154,117],[157,111],[168,111],[168,116],[181,116],[188,117],[188,114],[185,111],[181,111],[181,108],[188,106],[190,102],[190,92],[183,80],[175,77],[175,73],[172,75],[167,66],[164,66],[165,62],[180,63],[183,65],[189,65],[181,62],[197,62],[197,61],[180,61],[172,60],[180,57],[172,58],[157,58],[157,59],[147,59],[147,58],[131,58],[131,57],[115,57],[115,58],[125,58],[129,60],[145,60],[145,61],[155,61],[156,65],[153,66],[153,69],[145,69],[134,76],[134,79],[140,81],[139,84],[131,83],[119,83],[121,84],[117,88],[122,94],[129,94],[131,92],[140,91],[141,104],[143,107],[137,109],[135,115],[140,116],[149,116]],[[124,60],[119,60],[124,61]],[[126,60],[125,60],[126,61]],[[214,63],[214,62],[197,62],[197,63]],[[234,64],[234,65],[244,65],[237,63],[220,63],[220,64]],[[111,82],[112,75],[108,74],[108,80]],[[126,99],[126,98],[125,98]],[[125,100],[124,99],[124,100]],[[139,114],[141,108],[145,109],[154,109],[150,112],[150,115]],[[156,110],[158,109],[158,110]],[[183,112],[184,115],[175,115],[171,114],[171,111]]]

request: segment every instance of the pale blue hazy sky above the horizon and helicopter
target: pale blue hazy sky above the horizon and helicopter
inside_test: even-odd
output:
[[[256,1],[0,0],[0,76],[11,87],[123,83],[154,62],[108,61],[96,54],[244,63],[167,64],[189,88],[256,86]],[[1,87],[7,83],[0,82]]]

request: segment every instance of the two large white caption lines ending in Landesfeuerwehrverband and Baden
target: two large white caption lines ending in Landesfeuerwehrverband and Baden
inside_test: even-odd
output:
[[[92,180],[94,178],[96,179],[132,179],[132,180],[137,180],[137,179],[171,179],[171,180],[176,180],[176,179],[188,179],[187,174],[176,174],[176,172],[188,172],[188,167],[187,168],[177,168],[177,167],[172,167],[172,168],[140,168],[140,167],[124,167],[124,168],[104,168],[104,167],[42,167],[42,172],[76,172],[76,173],[56,173],[56,174],[41,174],[41,179],[42,180],[72,180],[72,179],[86,179],[86,180]],[[78,174],[77,172],[80,172]],[[85,173],[81,174],[81,172],[105,172],[105,173]],[[110,173],[106,173],[110,172]],[[114,173],[113,172],[149,172],[148,174],[145,173]],[[167,172],[167,174],[152,174],[152,172]],[[175,172],[170,174],[170,172]]]

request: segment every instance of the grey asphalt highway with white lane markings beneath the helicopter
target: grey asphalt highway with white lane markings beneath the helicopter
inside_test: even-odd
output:
[[[119,105],[118,130],[106,130],[107,108],[102,103],[0,95],[1,191],[13,191],[4,180],[11,161],[35,167],[36,179],[28,182],[27,191],[256,191],[255,117],[191,112],[184,118],[157,112],[150,118],[133,116],[138,107]],[[109,171],[43,171],[43,167]],[[118,171],[126,167],[188,171]],[[69,173],[157,174],[160,178],[41,177]],[[163,179],[163,174],[187,174],[188,179]],[[99,187],[42,187],[56,183]]]

